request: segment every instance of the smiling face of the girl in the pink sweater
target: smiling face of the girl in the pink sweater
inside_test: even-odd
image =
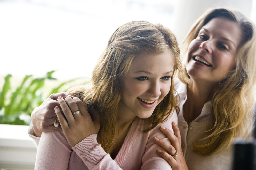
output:
[[[122,78],[121,114],[148,118],[169,93],[173,73],[171,51],[136,56],[128,74]]]

